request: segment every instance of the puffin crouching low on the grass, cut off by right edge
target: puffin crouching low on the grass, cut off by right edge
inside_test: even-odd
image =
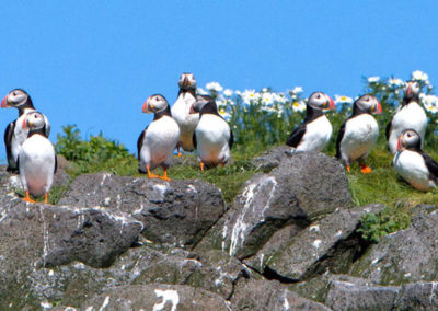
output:
[[[396,150],[392,164],[403,180],[423,192],[437,187],[438,163],[422,150],[422,137],[415,129],[400,134]]]

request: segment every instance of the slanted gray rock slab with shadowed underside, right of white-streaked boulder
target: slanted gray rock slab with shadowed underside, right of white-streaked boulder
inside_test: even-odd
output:
[[[274,254],[267,253],[266,264],[270,270],[293,280],[301,280],[315,272],[321,274],[326,268],[334,273],[344,273],[353,263],[354,255],[360,251],[358,241],[348,243],[348,239],[355,235],[361,217],[368,212],[379,214],[383,208],[382,205],[369,205],[337,210],[313,222],[287,246]],[[339,254],[338,249],[346,254]],[[261,253],[257,257],[262,257]]]

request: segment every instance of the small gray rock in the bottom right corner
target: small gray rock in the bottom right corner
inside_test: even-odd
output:
[[[438,310],[438,283],[403,285],[393,310]]]

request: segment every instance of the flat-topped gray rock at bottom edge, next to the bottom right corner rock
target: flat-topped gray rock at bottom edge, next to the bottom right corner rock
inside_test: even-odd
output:
[[[325,304],[333,310],[392,310],[399,290],[345,276],[332,279]]]

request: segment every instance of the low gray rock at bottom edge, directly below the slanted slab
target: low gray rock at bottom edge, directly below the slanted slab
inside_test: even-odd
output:
[[[279,281],[240,279],[230,300],[232,310],[330,310],[287,289]]]

